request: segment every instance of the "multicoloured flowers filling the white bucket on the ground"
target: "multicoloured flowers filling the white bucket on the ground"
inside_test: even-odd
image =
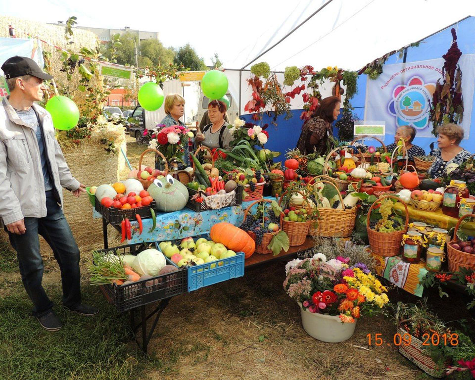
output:
[[[354,323],[362,315],[383,312],[389,302],[385,291],[364,263],[350,266],[349,258],[327,261],[322,253],[285,266],[284,289],[311,313],[338,315],[341,322]]]

